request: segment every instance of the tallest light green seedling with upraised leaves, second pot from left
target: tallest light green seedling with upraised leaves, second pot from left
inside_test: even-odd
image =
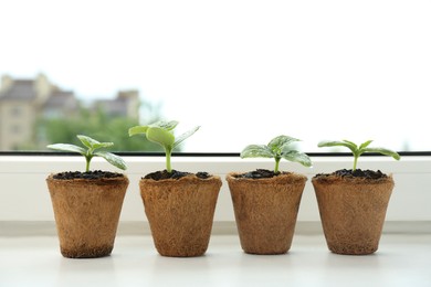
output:
[[[177,127],[177,120],[160,120],[147,126],[136,126],[129,128],[128,135],[132,137],[135,135],[145,134],[149,141],[162,146],[166,153],[166,170],[171,173],[172,167],[170,164],[170,157],[172,155],[172,150],[200,128],[199,126],[195,127],[193,129],[186,131],[185,134],[176,138],[174,135],[174,129]]]

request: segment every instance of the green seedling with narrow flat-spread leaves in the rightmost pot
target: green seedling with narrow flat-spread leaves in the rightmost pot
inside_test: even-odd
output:
[[[355,158],[354,159],[354,169],[353,169],[354,171],[356,170],[360,155],[362,155],[364,152],[378,152],[378,153],[381,153],[383,156],[390,156],[390,157],[395,158],[396,160],[400,159],[400,155],[398,155],[393,150],[386,149],[386,148],[369,148],[368,146],[371,142],[372,142],[372,140],[367,140],[366,142],[361,144],[358,147],[355,142],[351,142],[351,141],[345,140],[345,139],[343,141],[324,140],[324,141],[320,141],[317,146],[319,148],[322,148],[322,147],[346,147],[346,148],[349,148],[351,150],[351,152],[354,153],[354,158]]]

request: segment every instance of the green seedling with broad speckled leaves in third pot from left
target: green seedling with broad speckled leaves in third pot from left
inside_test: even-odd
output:
[[[278,172],[280,160],[283,158],[288,161],[298,162],[304,167],[311,167],[312,160],[309,157],[297,150],[294,150],[290,145],[299,139],[288,136],[278,136],[273,138],[267,146],[250,145],[241,151],[241,158],[274,158],[274,172]]]

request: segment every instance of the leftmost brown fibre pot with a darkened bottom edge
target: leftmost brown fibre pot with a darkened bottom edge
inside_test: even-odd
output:
[[[127,177],[56,180],[51,174],[46,182],[62,255],[70,258],[109,255],[128,187]]]

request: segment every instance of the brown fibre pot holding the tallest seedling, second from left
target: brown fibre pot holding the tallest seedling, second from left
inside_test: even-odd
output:
[[[207,252],[221,180],[189,174],[139,181],[153,240],[162,256],[190,257]]]

